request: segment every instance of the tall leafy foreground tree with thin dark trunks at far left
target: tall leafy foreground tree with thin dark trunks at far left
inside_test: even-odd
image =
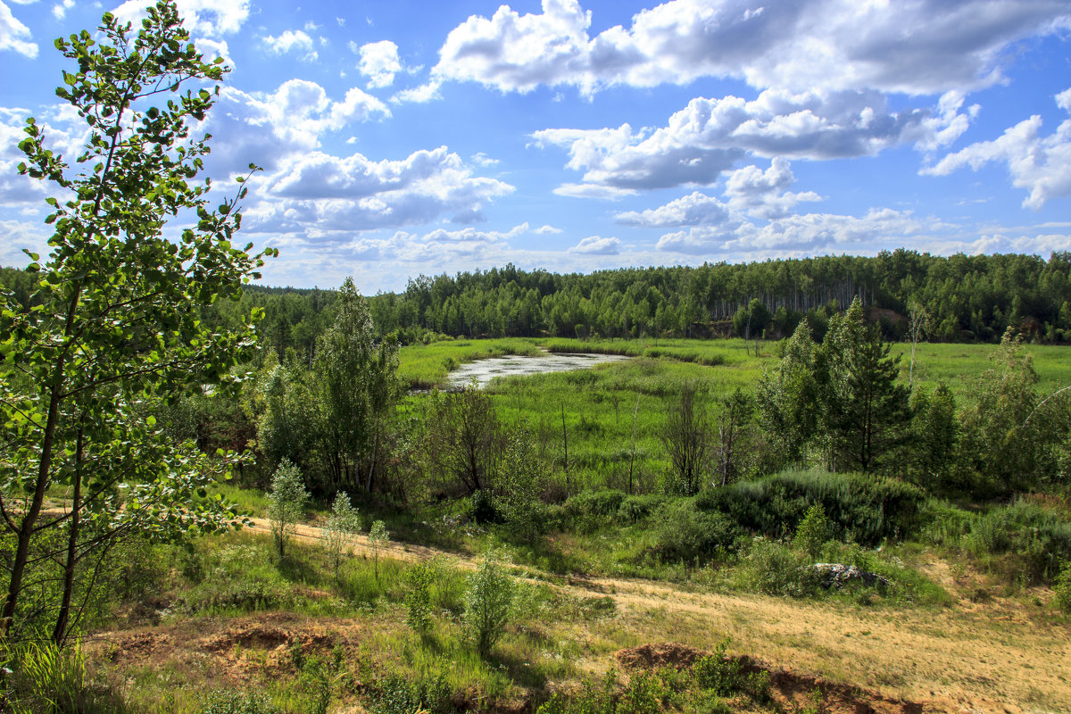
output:
[[[211,531],[232,516],[202,498],[210,474],[153,428],[151,413],[161,400],[238,381],[230,370],[250,355],[256,316],[235,332],[215,332],[198,308],[237,300],[243,283],[259,277],[263,257],[275,255],[231,244],[244,187],[210,210],[209,180],[195,181],[209,147],[207,136],[191,138],[188,122],[205,118],[218,88],[178,90],[220,81],[227,67],[206,63],[188,39],[175,3],[162,0],[136,35],[106,13],[96,35],[84,30],[56,41],[78,64],[56,93],[87,124],[73,165],[27,119],[19,171],[48,180],[66,200],[47,199],[55,209],[45,219],[54,226],[48,260],[28,254],[28,270],[41,275],[34,308],[6,295],[0,304],[0,492],[27,495],[17,506],[0,498],[0,527],[15,541],[2,635],[13,633],[28,569],[47,562],[30,557],[47,533],[62,530],[67,541],[65,552],[50,555],[64,563],[54,628],[61,641],[87,548],[126,532],[123,523],[136,514],[153,515],[148,522],[159,537]],[[165,106],[147,106],[165,93]],[[165,223],[179,213],[196,214],[197,223],[164,238]],[[137,486],[119,499],[121,482]],[[45,492],[56,484],[71,488],[71,507],[44,515]]]

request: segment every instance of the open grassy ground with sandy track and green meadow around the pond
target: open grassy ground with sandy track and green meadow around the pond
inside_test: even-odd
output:
[[[703,520],[712,516],[694,505],[700,499],[663,495],[672,485],[660,436],[667,411],[685,384],[696,388],[700,408],[737,389],[752,392],[778,362],[776,345],[758,347],[758,355],[742,340],[403,348],[399,373],[421,388],[488,355],[634,359],[487,389],[499,419],[531,432],[548,483],[557,484],[544,495],[543,527],[531,532],[473,522],[467,500],[396,510],[369,498],[359,504],[364,533],[346,544],[350,555],[335,571],[322,530],[327,504],[305,511],[280,558],[265,493],[226,486],[220,492],[251,516],[241,531],[188,548],[124,546],[109,576],[112,605],[80,647],[88,677],[121,693],[127,709],[99,711],[615,711],[584,709],[586,696],[633,702],[617,712],[1071,711],[1071,616],[1057,606],[1051,575],[1037,569],[1051,567],[1039,553],[1059,552],[1059,538],[1071,542],[1066,498],[963,506],[926,498],[907,537],[865,542],[845,530],[819,542],[809,560],[788,537],[798,523],[713,557],[665,557],[690,518],[718,522]],[[945,382],[961,407],[969,405],[993,350],[920,345],[916,379],[926,389]],[[1071,383],[1067,348],[1029,351],[1042,391]],[[420,413],[427,398],[409,394],[403,412]],[[623,493],[607,501],[614,492],[606,488]],[[629,493],[645,496],[625,502]],[[52,496],[51,507],[62,507],[63,493]],[[378,519],[389,543],[366,534]],[[512,578],[513,609],[501,640],[479,656],[464,613],[472,574],[488,558]],[[805,575],[815,560],[858,565],[884,584],[825,589]],[[423,629],[411,614],[418,577],[431,579]],[[728,668],[713,680],[698,664],[713,662],[703,659],[710,653]],[[565,695],[555,693],[580,703],[561,709]],[[238,699],[231,709],[209,708],[227,697],[247,708],[237,709]]]

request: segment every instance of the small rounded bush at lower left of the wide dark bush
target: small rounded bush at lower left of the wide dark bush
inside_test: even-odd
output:
[[[694,499],[678,499],[655,515],[654,549],[663,562],[698,563],[737,550],[741,531],[726,515],[700,511]]]

